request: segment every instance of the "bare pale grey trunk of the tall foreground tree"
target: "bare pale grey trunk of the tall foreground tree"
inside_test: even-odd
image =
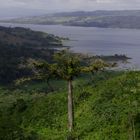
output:
[[[74,110],[73,110],[72,81],[68,81],[68,130],[73,130]]]

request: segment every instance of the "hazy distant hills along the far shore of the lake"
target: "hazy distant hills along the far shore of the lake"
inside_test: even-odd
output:
[[[140,10],[62,12],[3,20],[1,22],[140,29]]]

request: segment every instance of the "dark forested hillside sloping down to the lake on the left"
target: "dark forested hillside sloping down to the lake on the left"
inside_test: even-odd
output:
[[[25,28],[0,27],[0,83],[29,75],[22,67],[29,58],[51,61],[54,47],[61,47],[59,37]]]

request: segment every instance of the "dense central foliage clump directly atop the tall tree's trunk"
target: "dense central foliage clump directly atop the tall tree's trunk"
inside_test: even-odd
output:
[[[54,54],[57,65],[57,75],[65,80],[73,80],[81,73],[81,60],[77,54],[72,54],[69,50],[63,50]]]

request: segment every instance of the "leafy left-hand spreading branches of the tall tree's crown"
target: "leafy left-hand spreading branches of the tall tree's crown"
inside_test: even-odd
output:
[[[30,77],[24,77],[16,80],[16,85],[28,81],[43,80],[46,81],[48,88],[53,91],[50,80],[54,78],[56,73],[55,64],[49,64],[47,61],[44,60],[37,61],[34,59],[28,59],[27,64],[25,64],[24,67],[25,66],[31,69],[32,75]]]

